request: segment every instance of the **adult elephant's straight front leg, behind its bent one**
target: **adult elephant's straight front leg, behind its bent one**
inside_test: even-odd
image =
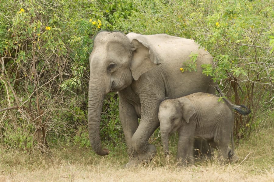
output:
[[[137,166],[137,152],[132,147],[131,138],[138,128],[138,116],[135,108],[119,94],[120,120],[125,134],[129,160],[125,167]]]

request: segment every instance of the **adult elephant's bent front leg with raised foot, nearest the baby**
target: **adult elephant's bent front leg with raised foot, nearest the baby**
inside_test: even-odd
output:
[[[165,98],[164,86],[147,78],[149,87],[139,86],[138,90],[141,103],[141,119],[139,126],[132,136],[133,148],[137,151],[140,162],[148,163],[156,155],[156,147],[148,144],[148,140],[153,132],[160,126],[158,111],[161,101]]]

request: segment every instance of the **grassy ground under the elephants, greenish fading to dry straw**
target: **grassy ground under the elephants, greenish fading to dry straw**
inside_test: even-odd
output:
[[[216,160],[176,168],[166,160],[161,146],[147,165],[124,169],[126,147],[112,147],[108,156],[97,156],[90,148],[63,146],[50,154],[0,148],[0,181],[274,181],[274,128],[261,125],[247,140],[236,144],[239,162],[220,165]],[[268,127],[266,127],[268,126]],[[270,126],[270,127],[269,127]]]

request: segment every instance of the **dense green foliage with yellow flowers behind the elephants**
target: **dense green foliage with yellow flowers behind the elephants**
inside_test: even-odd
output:
[[[0,8],[0,142],[6,146],[28,151],[55,143],[90,145],[88,57],[102,29],[166,33],[207,49],[215,68],[204,65],[204,74],[229,100],[252,110],[236,117],[238,139],[273,110],[270,0],[2,0]],[[185,71],[195,71],[193,56],[182,65]],[[103,107],[100,132],[110,143],[123,140],[118,99],[109,94]]]

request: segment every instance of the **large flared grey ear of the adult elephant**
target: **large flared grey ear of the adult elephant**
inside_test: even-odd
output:
[[[160,60],[159,55],[157,55],[155,50],[146,42],[132,39],[131,44],[133,49],[130,70],[133,79],[138,80],[142,74],[156,68],[156,66],[160,64]]]

